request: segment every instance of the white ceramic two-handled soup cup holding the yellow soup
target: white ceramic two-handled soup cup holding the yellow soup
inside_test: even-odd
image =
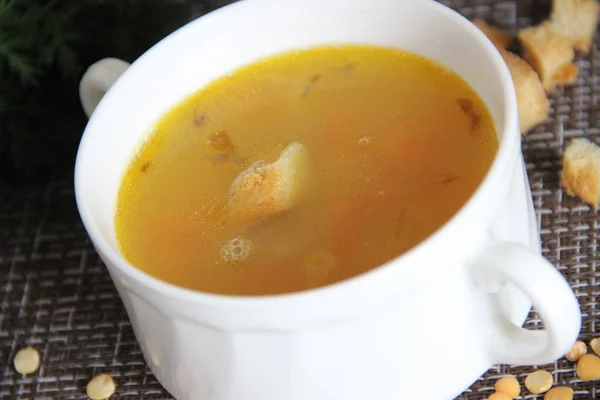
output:
[[[115,238],[116,195],[153,124],[239,66],[332,43],[421,54],[479,93],[500,147],[467,204],[401,257],[302,293],[200,293],[130,265]],[[150,368],[177,399],[449,399],[495,363],[551,362],[575,341],[577,301],[539,254],[509,72],[450,9],[430,0],[241,1],[181,28],[130,68],[114,59],[92,66],[81,84],[88,113],[107,90],[79,148],[77,202]],[[543,330],[521,328],[531,302]]]

